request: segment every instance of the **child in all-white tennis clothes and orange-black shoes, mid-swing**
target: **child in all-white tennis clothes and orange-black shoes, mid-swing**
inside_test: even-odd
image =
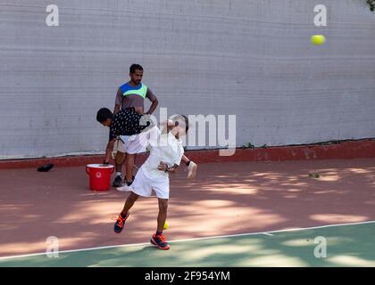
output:
[[[148,148],[150,156],[139,168],[134,182],[129,186],[130,195],[125,202],[116,223],[114,232],[120,233],[129,217],[129,210],[133,207],[139,196],[149,197],[152,191],[159,202],[156,232],[150,242],[161,249],[169,249],[170,245],[162,234],[167,218],[168,199],[170,197],[169,174],[175,173],[184,154],[181,137],[187,133],[188,119],[177,115],[164,124],[162,133],[153,126],[148,131]]]

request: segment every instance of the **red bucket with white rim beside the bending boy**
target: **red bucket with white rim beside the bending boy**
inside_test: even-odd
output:
[[[86,172],[90,178],[90,189],[93,191],[110,190],[113,170],[113,166],[106,166],[103,164],[87,165]]]

